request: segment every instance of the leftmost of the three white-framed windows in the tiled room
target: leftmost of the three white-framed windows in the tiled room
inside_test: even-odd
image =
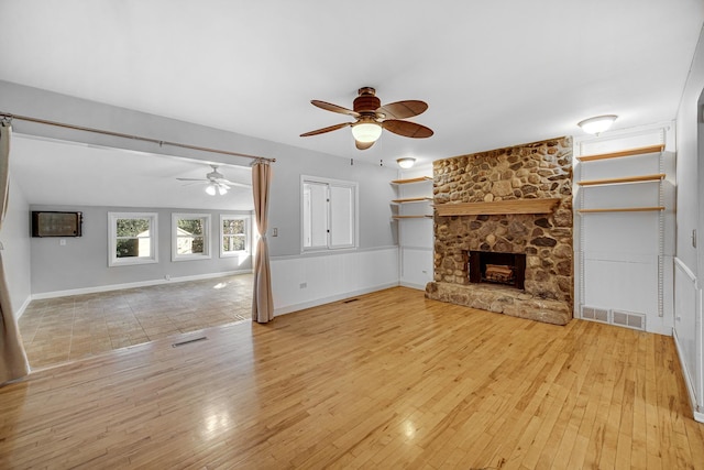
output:
[[[156,263],[157,215],[108,212],[108,266]]]

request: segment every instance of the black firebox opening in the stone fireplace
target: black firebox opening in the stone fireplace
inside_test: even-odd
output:
[[[526,254],[470,251],[471,283],[501,284],[524,289]]]

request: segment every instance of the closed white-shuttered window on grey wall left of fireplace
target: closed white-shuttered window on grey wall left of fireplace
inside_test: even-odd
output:
[[[302,250],[355,248],[356,206],[356,183],[302,176]]]

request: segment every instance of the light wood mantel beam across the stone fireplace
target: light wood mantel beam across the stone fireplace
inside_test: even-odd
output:
[[[491,216],[506,214],[550,214],[561,198],[509,199],[492,203],[448,203],[435,206],[438,216]]]

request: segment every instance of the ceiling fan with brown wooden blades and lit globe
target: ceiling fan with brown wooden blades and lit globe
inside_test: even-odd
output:
[[[311,100],[310,102],[320,109],[352,116],[356,118],[356,121],[343,122],[306,132],[305,134],[300,134],[300,136],[318,135],[352,127],[352,134],[354,135],[356,147],[359,150],[366,150],[374,145],[374,142],[382,135],[382,129],[414,139],[426,139],[432,135],[432,129],[430,128],[415,122],[402,121],[402,119],[413,118],[414,116],[425,112],[426,109],[428,109],[428,103],[425,101],[405,100],[382,106],[382,101],[376,97],[376,90],[372,87],[360,88],[359,95],[360,96],[354,98],[353,109],[317,99]]]

